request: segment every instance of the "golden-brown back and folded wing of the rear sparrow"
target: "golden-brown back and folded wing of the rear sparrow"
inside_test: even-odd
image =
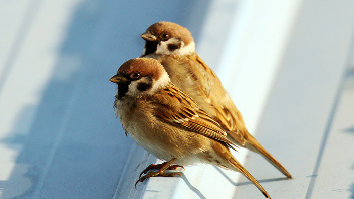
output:
[[[248,136],[243,118],[225,91],[216,74],[193,53],[187,56],[159,57],[171,77],[172,83],[181,88],[228,132],[228,137],[242,145]],[[193,79],[186,79],[186,77]]]

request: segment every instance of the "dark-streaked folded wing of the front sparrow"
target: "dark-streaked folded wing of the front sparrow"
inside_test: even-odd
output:
[[[154,115],[160,120],[212,139],[234,145],[226,138],[225,130],[179,88],[170,84],[155,95]]]

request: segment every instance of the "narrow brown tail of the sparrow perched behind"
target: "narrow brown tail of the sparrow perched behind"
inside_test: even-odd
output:
[[[263,158],[265,158],[269,163],[271,163],[275,168],[277,168],[282,174],[284,174],[287,178],[292,179],[291,174],[267,151],[263,148],[262,145],[252,136],[249,135],[248,143],[250,150],[260,154]]]

